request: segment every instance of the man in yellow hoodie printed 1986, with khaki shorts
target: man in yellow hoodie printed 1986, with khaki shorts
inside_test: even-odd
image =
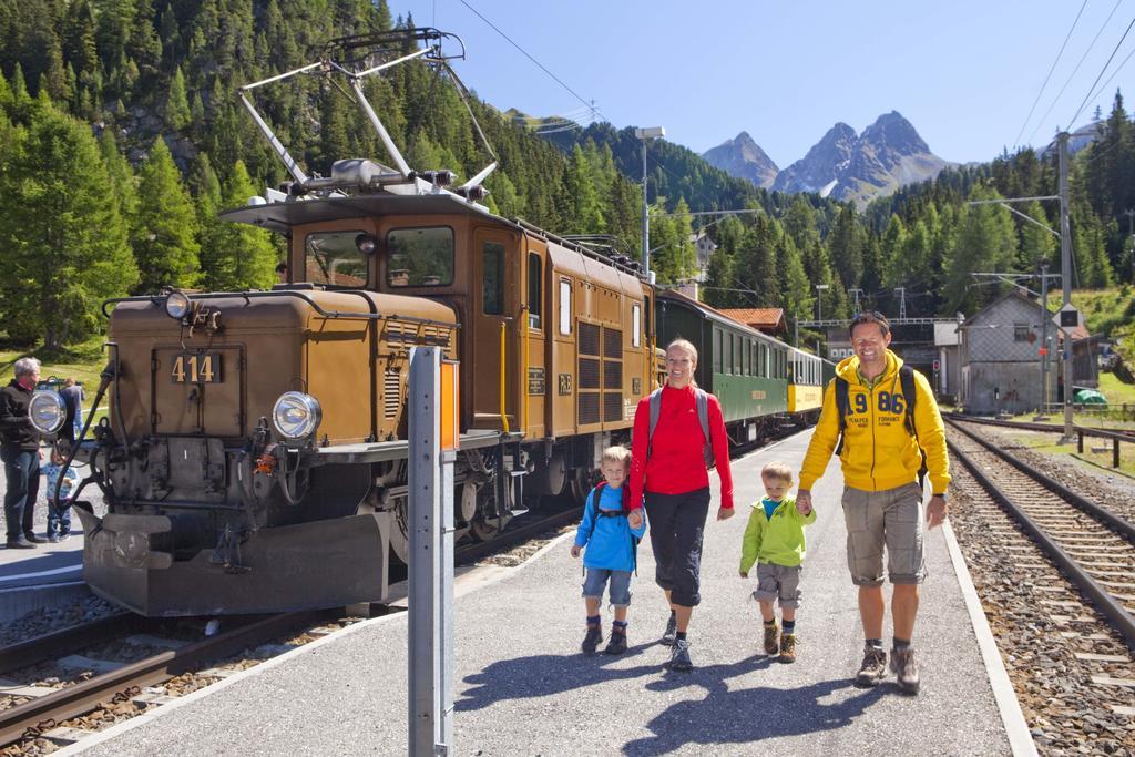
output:
[[[812,506],[812,486],[824,474],[842,432],[839,455],[848,567],[851,581],[859,587],[859,615],[866,637],[856,684],[874,687],[886,675],[882,641],[885,546],[886,572],[894,587],[890,667],[900,690],[914,695],[918,692],[918,671],[910,638],[918,614],[918,584],[926,577],[923,520],[925,516],[930,528],[945,520],[950,471],[945,430],[930,382],[917,371],[903,379],[902,360],[888,348],[890,344],[891,325],[881,313],[860,313],[851,321],[855,355],[835,367],[836,379],[824,393],[819,422],[800,471],[797,506]],[[836,402],[839,379],[847,381],[842,410]],[[914,397],[905,396],[903,382],[914,387]],[[911,399],[914,412],[908,414]],[[923,454],[933,491],[925,510],[919,481]]]

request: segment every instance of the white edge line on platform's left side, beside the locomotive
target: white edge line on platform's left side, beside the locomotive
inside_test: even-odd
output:
[[[532,554],[531,557],[529,557],[528,560],[526,560],[520,565],[515,565],[513,567],[501,567],[501,566],[497,566],[497,565],[485,566],[485,567],[487,567],[487,570],[484,571],[484,572],[488,573],[488,577],[485,578],[484,580],[473,581],[472,582],[473,586],[471,586],[466,591],[459,592],[457,588],[454,587],[454,598],[456,598],[456,596],[462,596],[462,595],[465,595],[465,594],[472,594],[473,591],[477,591],[479,589],[484,589],[485,587],[491,586],[491,584],[496,583],[497,581],[504,580],[504,579],[506,579],[506,578],[508,578],[511,575],[515,575],[519,571],[521,571],[524,567],[528,567],[529,565],[532,565],[533,563],[536,563],[537,558],[539,558],[540,556],[543,556],[545,553],[550,552],[553,548],[555,548],[556,546],[558,546],[562,541],[565,541],[565,540],[568,540],[570,538],[574,538],[574,536],[575,536],[575,531],[571,530],[571,531],[568,531],[566,533],[563,533],[563,535],[556,537],[555,539],[553,539],[548,544],[546,544],[543,547],[540,547],[536,553]],[[469,574],[466,574],[466,578],[469,575],[472,575],[476,572],[478,572],[478,571],[471,571]],[[296,657],[299,655],[308,654],[308,653],[310,653],[310,651],[312,651],[314,649],[318,649],[319,647],[323,646],[325,644],[330,644],[333,640],[337,640],[337,639],[339,639],[339,638],[342,638],[342,637],[344,637],[344,636],[346,636],[348,633],[356,633],[356,632],[361,631],[363,628],[369,628],[369,626],[376,625],[378,623],[393,622],[395,620],[406,620],[407,617],[409,617],[409,614],[404,613],[404,612],[392,613],[390,615],[382,615],[381,617],[372,617],[370,620],[365,620],[365,621],[362,621],[360,623],[354,623],[353,625],[347,625],[346,628],[339,629],[338,631],[335,631],[334,633],[328,633],[327,636],[322,637],[321,639],[316,639],[314,641],[305,644],[302,647],[296,647],[295,649],[293,649],[291,651],[286,651],[283,655],[279,655],[277,657],[272,657],[271,659],[266,659],[264,662],[260,663],[259,665],[255,665],[255,666],[250,667],[247,670],[241,671],[239,673],[235,673],[233,675],[229,675],[228,678],[221,679],[220,681],[217,681],[215,683],[210,683],[209,685],[207,685],[207,687],[204,687],[202,689],[197,689],[196,691],[193,691],[191,693],[187,693],[184,697],[178,697],[174,701],[170,701],[168,704],[161,705],[160,707],[155,707],[152,713],[150,713],[150,712],[143,713],[141,715],[132,717],[128,721],[123,721],[121,723],[118,723],[117,725],[112,725],[109,729],[106,729],[104,731],[98,731],[98,732],[93,733],[92,735],[90,735],[90,737],[87,737],[87,738],[85,738],[85,739],[83,739],[81,741],[76,741],[75,743],[73,743],[73,745],[70,745],[68,747],[65,747],[65,748],[62,748],[62,749],[60,749],[58,751],[54,751],[52,754],[53,755],[59,755],[59,757],[67,757],[68,755],[78,755],[78,754],[82,754],[83,751],[85,751],[86,749],[89,749],[91,747],[96,747],[98,745],[103,743],[104,741],[109,741],[110,739],[114,739],[115,737],[121,735],[123,733],[126,733],[127,731],[132,731],[133,729],[136,729],[136,727],[140,727],[142,725],[145,725],[146,723],[149,723],[151,721],[154,721],[154,720],[157,720],[159,717],[165,717],[166,715],[169,715],[169,714],[174,713],[175,710],[177,710],[180,707],[190,705],[190,704],[196,701],[197,699],[203,699],[203,698],[205,698],[205,697],[208,697],[210,695],[213,695],[213,693],[220,691],[221,689],[228,688],[228,687],[235,684],[236,682],[242,681],[242,680],[244,680],[246,678],[252,678],[252,676],[254,676],[257,674],[260,674],[260,673],[263,673],[266,671],[269,671],[269,670],[276,667],[277,665],[283,665],[285,663],[288,663],[288,662],[292,661],[293,657]]]

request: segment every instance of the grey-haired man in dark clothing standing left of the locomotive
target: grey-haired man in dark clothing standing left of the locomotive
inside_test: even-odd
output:
[[[9,549],[30,549],[41,544],[35,536],[35,498],[40,494],[40,435],[32,426],[28,405],[40,380],[40,361],[20,358],[16,378],[0,389],[0,459],[7,490],[3,497]]]

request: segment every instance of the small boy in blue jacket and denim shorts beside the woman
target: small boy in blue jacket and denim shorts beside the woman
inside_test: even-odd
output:
[[[604,481],[591,489],[583,507],[583,520],[575,532],[571,556],[579,557],[586,546],[583,567],[583,602],[587,605],[587,636],[583,637],[583,654],[594,655],[603,641],[603,619],[599,604],[603,588],[611,579],[611,604],[615,607],[615,622],[611,629],[611,640],[604,651],[621,655],[627,651],[627,608],[631,604],[631,574],[634,572],[634,548],[646,533],[642,508],[630,510],[630,488],[627,472],[630,470],[631,451],[627,447],[608,447],[603,451],[599,470]]]

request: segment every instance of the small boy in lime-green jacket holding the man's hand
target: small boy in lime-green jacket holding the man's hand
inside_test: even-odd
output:
[[[768,463],[760,470],[765,498],[753,505],[749,524],[741,542],[741,578],[749,578],[757,563],[757,590],[765,622],[765,653],[780,653],[780,662],[796,662],[796,608],[800,606],[800,566],[804,564],[804,527],[816,522],[808,504],[797,507],[788,496],[792,488],[792,469],[781,462]],[[773,600],[780,599],[784,632],[776,625]]]

